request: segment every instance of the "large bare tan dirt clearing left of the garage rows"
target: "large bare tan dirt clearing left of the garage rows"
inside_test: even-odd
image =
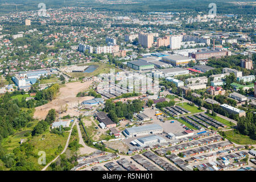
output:
[[[92,84],[92,81],[86,81],[86,82],[71,82],[68,84],[65,84],[64,87],[60,88],[59,96],[48,104],[39,106],[35,108],[34,118],[35,119],[45,119],[48,111],[50,109],[55,109],[57,112],[61,110],[61,106],[64,107],[65,105],[68,105],[67,112],[63,113],[62,115],[77,115],[79,111],[77,109],[74,109],[75,106],[77,106],[79,103],[81,104],[84,100],[90,100],[93,97],[86,96],[86,97],[76,97],[77,93],[85,91],[89,88],[90,84]]]

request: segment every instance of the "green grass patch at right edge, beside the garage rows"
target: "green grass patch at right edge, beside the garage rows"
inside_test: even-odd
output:
[[[256,144],[256,140],[250,139],[246,135],[239,134],[237,130],[234,130],[234,137],[232,130],[225,131],[226,139],[237,144]]]

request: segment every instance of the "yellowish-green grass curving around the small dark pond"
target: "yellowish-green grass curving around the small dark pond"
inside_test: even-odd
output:
[[[70,75],[71,77],[78,78],[82,76],[88,77],[88,76],[97,76],[101,73],[109,73],[110,69],[115,69],[115,72],[121,71],[121,69],[115,68],[114,65],[109,65],[105,63],[86,63],[86,64],[81,64],[81,66],[82,65],[97,65],[98,67],[92,73],[68,73],[68,75]]]

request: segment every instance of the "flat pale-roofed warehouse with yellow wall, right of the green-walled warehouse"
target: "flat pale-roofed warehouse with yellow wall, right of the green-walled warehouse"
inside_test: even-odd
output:
[[[181,55],[170,55],[162,57],[162,60],[166,63],[170,63],[173,66],[187,65],[190,61],[196,62],[195,59]]]

